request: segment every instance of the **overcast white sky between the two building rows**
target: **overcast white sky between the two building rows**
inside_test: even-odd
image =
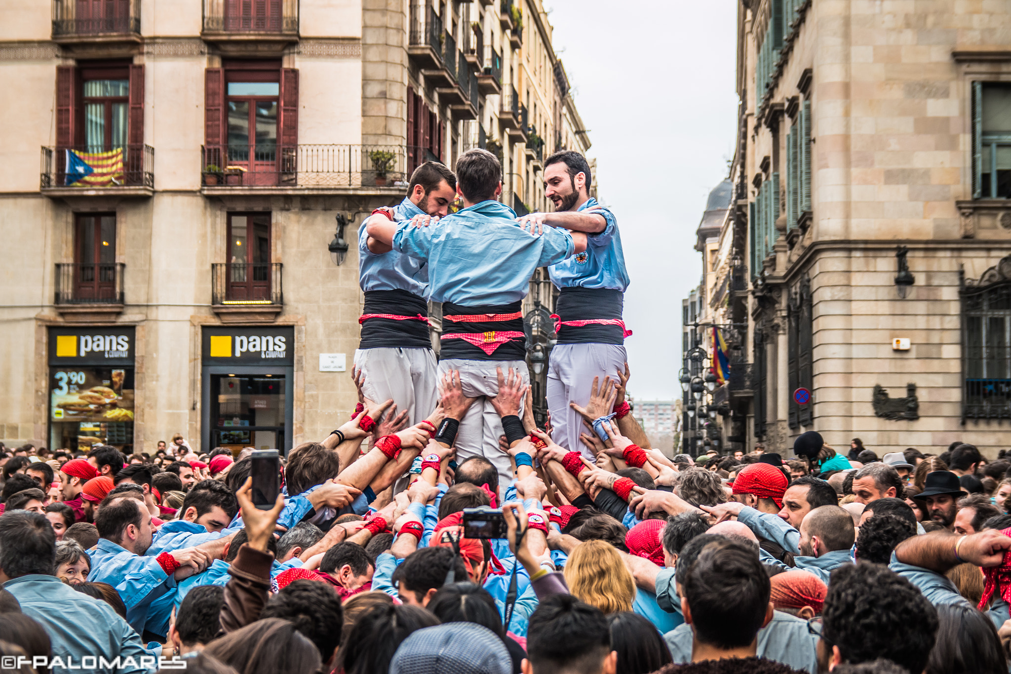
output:
[[[734,152],[737,5],[544,2],[632,279],[629,391],[672,399],[680,391],[681,299],[702,274],[695,230]]]

